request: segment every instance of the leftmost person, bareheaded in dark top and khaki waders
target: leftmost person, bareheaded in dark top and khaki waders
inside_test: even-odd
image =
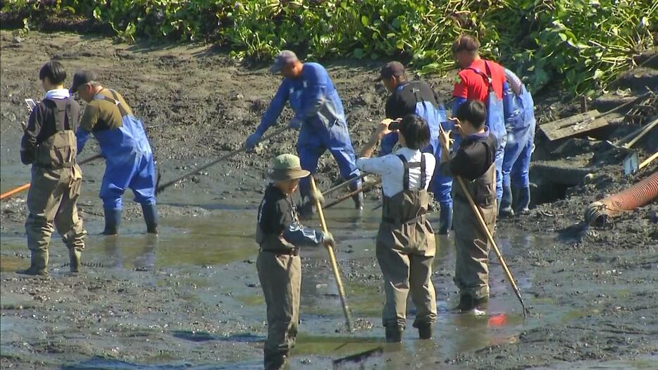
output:
[[[48,274],[48,246],[54,228],[68,247],[71,272],[80,271],[80,254],[85,249],[87,233],[77,216],[82,172],[75,164],[80,105],[63,87],[65,79],[66,71],[57,61],[50,61],[39,70],[46,95],[30,113],[20,142],[20,160],[32,164],[27,193],[30,214],[25,222],[32,258],[28,269],[18,271],[27,275]]]

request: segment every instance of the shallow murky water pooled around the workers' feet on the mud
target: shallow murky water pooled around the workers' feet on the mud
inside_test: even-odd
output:
[[[297,347],[293,352],[292,368],[302,366],[304,369],[326,369],[331,366],[332,359],[367,351],[374,352],[361,359],[363,364],[373,362],[380,364],[383,369],[399,369],[406,367],[409,362],[436,366],[437,362],[442,362],[446,357],[454,357],[459,352],[514,341],[521,331],[538,326],[533,317],[523,321],[519,303],[504,280],[497,261],[493,260],[495,257],[492,253],[492,300],[489,315],[454,314],[450,311],[450,307],[456,304],[455,298],[452,297],[454,295],[444,293],[437,302],[436,339],[421,341],[417,339],[416,329],[411,326],[415,308],[409,302],[408,326],[404,331],[403,344],[397,347],[385,345],[380,319],[384,302],[383,284],[374,259],[374,239],[380,221],[380,210],[372,211],[371,204],[368,202],[369,208],[361,215],[347,206],[339,206],[327,212],[328,226],[339,240],[338,259],[342,264],[356,266],[356,269],[344,270],[343,275],[347,271],[356,274],[352,278],[344,278],[344,281],[349,306],[353,318],[359,321],[360,330],[352,334],[345,331],[337,287],[330,270],[326,266],[316,270],[304,267],[300,315],[302,323]],[[252,346],[258,350],[266,336],[266,326],[263,326],[265,304],[255,266],[258,251],[254,242],[256,211],[238,209],[239,207],[208,207],[214,209],[206,215],[162,218],[161,233],[157,236],[144,234],[142,220],[138,218],[125,221],[121,235],[90,235],[84,260],[92,265],[87,267],[88,269],[94,269],[97,274],[106,273],[108,276],[111,274],[109,271],[120,273],[122,278],[139,278],[130,270],[168,273],[175,276],[177,287],[185,289],[181,299],[189,300],[191,304],[221,306],[235,313],[231,320],[240,322],[245,328],[252,328],[251,332],[242,333],[204,333],[192,330],[164,332],[175,340],[198,345],[234,343]],[[100,222],[91,223],[89,228],[100,229]],[[306,225],[317,227],[317,222],[308,221]],[[523,235],[511,229],[499,230],[498,239],[506,257],[531,248],[533,244],[550,242],[550,238]],[[55,273],[58,270],[68,270],[66,267],[59,268],[66,264],[68,256],[66,248],[58,238],[53,238],[51,251],[51,266],[54,266]],[[22,236],[2,235],[1,252],[2,271],[15,271],[19,266],[26,266],[28,263],[28,259],[11,255],[28,254]],[[326,259],[324,248],[311,247],[303,251],[304,264],[309,266],[326,264]],[[437,258],[434,267],[435,271],[447,271],[448,274],[453,271],[452,237],[437,237]],[[510,267],[516,272],[521,290],[531,289],[532,276],[524,276],[515,271],[514,266]],[[159,280],[160,284],[172,283],[170,280],[156,280]],[[442,278],[436,288],[443,292],[456,291],[452,278]],[[558,309],[550,300],[535,301],[529,294],[525,299],[526,304],[534,306],[535,312],[550,313],[542,316],[542,320],[569,321],[577,317],[573,312]],[[138,324],[137,321],[130,322]],[[144,331],[149,333],[146,327]],[[381,351],[378,350],[379,347],[382,347]],[[223,358],[226,365],[216,364],[208,368],[250,369],[254,366],[257,368],[261,361],[260,354],[247,362],[244,362],[245,359],[240,354],[226,354]],[[154,369],[178,369],[180,366],[192,366],[185,367],[186,369],[206,369],[206,366],[209,366],[189,363],[183,365],[166,357],[147,357],[146,354],[143,361],[154,364],[152,366],[156,367],[149,365]],[[149,366],[108,359],[89,359],[68,369],[150,369]]]

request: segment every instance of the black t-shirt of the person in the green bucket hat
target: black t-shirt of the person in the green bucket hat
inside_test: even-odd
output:
[[[280,235],[294,223],[295,214],[292,199],[273,184],[268,185],[258,210],[258,223],[263,233]]]

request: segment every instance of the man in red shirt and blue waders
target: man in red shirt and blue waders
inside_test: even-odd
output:
[[[480,42],[473,36],[460,35],[452,44],[454,55],[459,68],[462,68],[454,83],[452,96],[455,103],[452,106],[452,116],[456,116],[457,109],[466,100],[481,101],[487,109],[485,124],[496,137],[496,199],[500,204],[502,199],[502,162],[507,142],[505,130],[503,92],[507,90],[504,68],[495,61],[480,58]],[[459,147],[461,137],[455,138],[455,149]]]

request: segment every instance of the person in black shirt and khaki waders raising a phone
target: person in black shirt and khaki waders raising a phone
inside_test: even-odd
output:
[[[487,109],[480,101],[467,100],[457,109],[455,129],[461,134],[459,150],[450,159],[445,151],[440,171],[444,175],[461,176],[482,211],[482,217],[493,233],[497,216],[496,202],[496,137],[486,127]],[[440,140],[449,147],[450,132],[442,132]],[[489,300],[489,249],[487,235],[480,227],[461,186],[452,187],[454,198],[454,244],[457,261],[454,283],[459,288],[461,312],[484,309]]]

